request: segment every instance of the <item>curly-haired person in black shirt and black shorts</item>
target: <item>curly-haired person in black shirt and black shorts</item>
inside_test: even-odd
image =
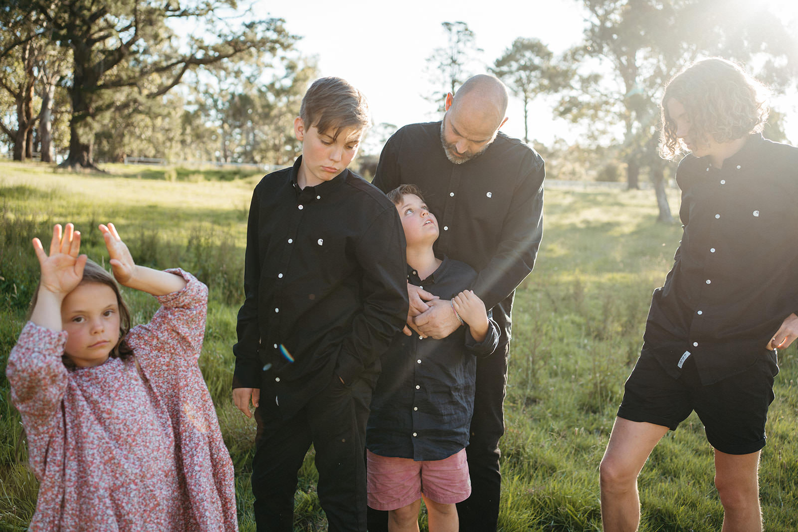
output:
[[[693,410],[715,450],[723,530],[762,530],[757,468],[776,349],[798,334],[798,148],[762,138],[760,89],[713,58],[662,97],[663,155],[690,152],[676,175],[684,234],[602,459],[605,530],[636,530],[637,476]]]

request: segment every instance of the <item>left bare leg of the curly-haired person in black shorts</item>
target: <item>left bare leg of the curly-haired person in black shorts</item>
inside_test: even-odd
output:
[[[638,475],[667,427],[616,417],[599,467],[601,516],[606,532],[633,532],[640,524]]]

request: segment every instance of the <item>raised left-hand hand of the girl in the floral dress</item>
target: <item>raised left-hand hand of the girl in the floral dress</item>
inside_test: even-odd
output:
[[[34,238],[34,251],[41,267],[41,289],[53,294],[66,296],[83,279],[86,256],[79,255],[81,233],[75,231],[72,223],[67,223],[61,232],[61,224],[53,226],[53,239],[50,241],[49,256],[45,253],[41,240]]]

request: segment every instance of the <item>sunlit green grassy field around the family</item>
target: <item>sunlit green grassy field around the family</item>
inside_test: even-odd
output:
[[[113,221],[137,262],[182,266],[210,287],[200,365],[236,467],[239,522],[254,530],[249,463],[254,421],[230,399],[243,249],[259,175],[109,166],[111,175],[0,162],[0,369],[38,280],[30,238],[49,242],[73,221],[101,260],[97,223]],[[671,207],[678,208],[673,192]],[[651,290],[660,286],[681,229],[654,222],[652,191],[547,191],[538,264],[516,294],[502,439],[500,530],[600,530],[598,468],[623,382],[638,355]],[[156,308],[127,291],[136,322]],[[760,468],[767,530],[798,530],[798,363],[781,353],[768,445]],[[641,530],[720,530],[712,450],[691,416],[656,447],[640,479]],[[300,472],[295,530],[326,530],[312,454]],[[26,467],[18,414],[0,375],[0,530],[25,530],[37,483]]]

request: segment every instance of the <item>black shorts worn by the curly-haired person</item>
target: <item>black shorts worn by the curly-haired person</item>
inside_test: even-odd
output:
[[[693,357],[674,379],[651,356],[638,358],[624,386],[618,417],[676,430],[696,411],[718,451],[747,455],[764,447],[764,424],[778,366],[769,357],[714,384],[701,385]]]

